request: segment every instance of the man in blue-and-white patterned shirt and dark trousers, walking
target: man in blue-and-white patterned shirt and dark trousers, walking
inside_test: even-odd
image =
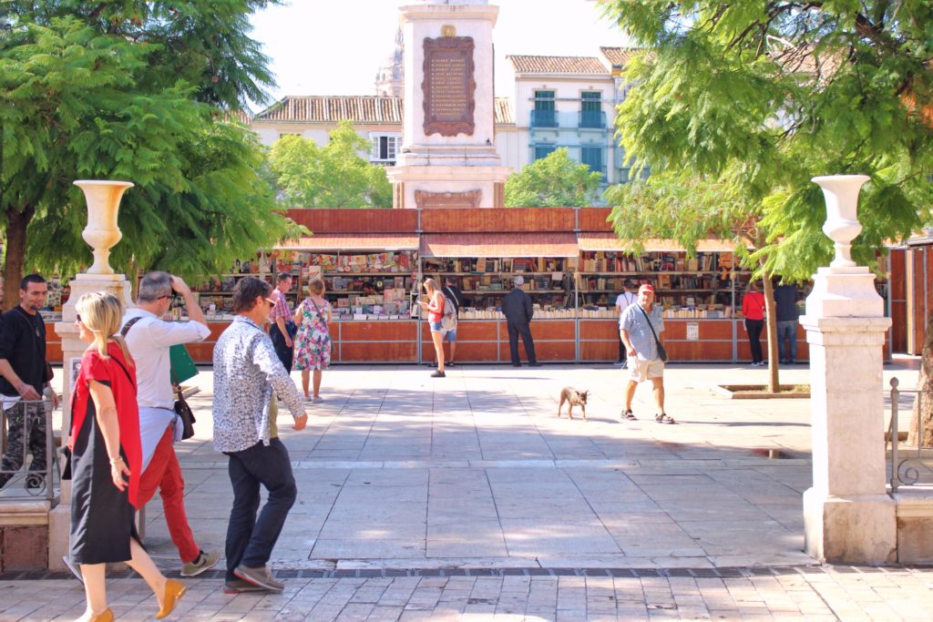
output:
[[[278,438],[276,395],[295,418],[294,430],[308,424],[304,403],[261,326],[275,301],[272,286],[245,277],[233,289],[234,318],[214,348],[214,449],[230,457],[233,507],[227,528],[225,591],[285,586],[266,564],[285,525],[298,489],[288,450]],[[269,499],[257,518],[259,485]]]

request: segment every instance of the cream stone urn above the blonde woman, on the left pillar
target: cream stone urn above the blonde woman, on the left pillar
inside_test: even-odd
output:
[[[88,201],[88,226],[81,237],[91,245],[94,263],[87,273],[113,274],[110,249],[123,237],[117,226],[119,200],[132,182],[78,180],[75,186],[81,188]]]

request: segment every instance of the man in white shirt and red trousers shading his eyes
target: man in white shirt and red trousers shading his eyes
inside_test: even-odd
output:
[[[185,300],[188,322],[161,319],[176,295]],[[143,277],[136,305],[123,316],[120,332],[136,364],[136,400],[143,445],[139,498],[145,505],[160,491],[165,522],[182,560],[181,574],[194,576],[214,567],[220,554],[205,553],[195,543],[185,513],[185,479],[173,447],[174,441],[181,439],[182,425],[174,411],[169,349],[177,344],[202,341],[211,330],[188,284],[168,272],[149,272]]]

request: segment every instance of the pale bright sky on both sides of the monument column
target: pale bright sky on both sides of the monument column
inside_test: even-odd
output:
[[[372,95],[376,70],[394,50],[397,0],[292,0],[253,16],[252,36],[271,58],[283,95]],[[491,0],[496,92],[512,93],[507,54],[598,56],[624,35],[589,0]]]

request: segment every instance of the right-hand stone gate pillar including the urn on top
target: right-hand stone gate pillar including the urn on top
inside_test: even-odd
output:
[[[882,348],[891,320],[874,275],[849,256],[865,175],[815,177],[836,258],[814,276],[801,325],[810,345],[813,488],[803,493],[805,548],[830,563],[896,560],[896,505],[885,491]]]

